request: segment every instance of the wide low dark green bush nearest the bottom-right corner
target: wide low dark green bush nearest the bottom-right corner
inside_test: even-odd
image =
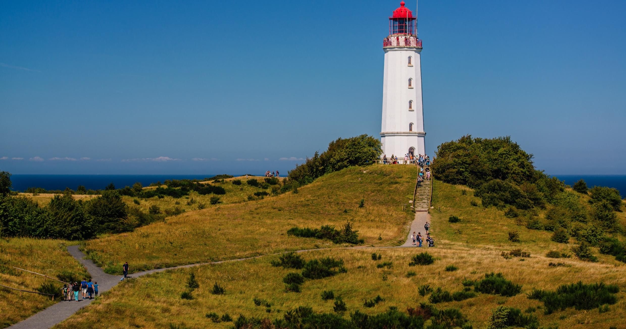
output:
[[[616,285],[604,283],[583,284],[582,281],[570,285],[562,285],[555,291],[533,289],[528,294],[529,299],[543,302],[546,314],[556,310],[565,310],[573,307],[576,310],[592,310],[600,305],[613,305],[617,302],[615,294],[619,291]]]

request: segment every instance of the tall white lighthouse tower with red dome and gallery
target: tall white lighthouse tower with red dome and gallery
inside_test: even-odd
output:
[[[422,108],[422,69],[417,12],[404,6],[389,18],[389,36],[382,41],[385,68],[382,84],[382,151],[389,158],[426,154]]]

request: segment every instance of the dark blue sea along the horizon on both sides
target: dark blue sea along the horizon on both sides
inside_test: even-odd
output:
[[[103,190],[106,185],[113,183],[116,188],[132,186],[140,182],[143,186],[165,180],[202,180],[215,175],[13,175],[12,190],[24,191],[29,187],[45,188],[46,190],[65,190],[66,187],[76,190],[83,185],[91,190]],[[239,176],[239,175],[233,175]],[[608,186],[617,188],[622,198],[626,198],[626,175],[552,175],[567,185],[573,185],[582,179],[587,186]]]

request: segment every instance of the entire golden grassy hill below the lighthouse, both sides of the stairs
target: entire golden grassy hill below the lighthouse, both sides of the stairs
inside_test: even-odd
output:
[[[363,173],[364,170],[366,173]],[[570,248],[575,240],[572,239],[569,244],[557,243],[551,240],[551,232],[528,229],[523,221],[507,218],[504,211],[495,207],[483,208],[480,206],[480,198],[473,196],[473,190],[464,186],[441,181],[434,183],[431,234],[436,238],[436,248],[370,247],[399,245],[400,240],[404,240],[404,224],[412,215],[402,211],[401,205],[411,197],[414,179],[412,170],[414,168],[408,166],[349,168],[316,180],[312,185],[301,188],[298,194],[222,206],[219,210],[215,208],[187,213],[168,218],[168,223],[141,228],[135,232],[137,236],[133,233],[109,236],[87,245],[87,248],[93,248],[91,250],[103,250],[107,243],[113,244],[106,248],[106,255],[109,255],[107,259],[119,258],[117,261],[123,261],[124,257],[133,257],[133,253],[137,253],[130,263],[134,261],[146,267],[158,266],[158,261],[148,259],[150,254],[137,247],[141,243],[151,243],[150,249],[159,259],[167,258],[180,263],[193,262],[203,257],[239,258],[310,248],[311,245],[337,246],[312,238],[294,238],[284,232],[293,225],[339,225],[349,218],[361,230],[366,246],[313,250],[299,254],[307,261],[325,257],[342,260],[346,273],[317,280],[307,279],[301,285],[301,292],[296,293],[285,290],[282,278],[288,273],[300,273],[302,270],[272,266],[272,261],[278,260],[277,255],[170,270],[121,283],[96,300],[93,306],[81,310],[56,328],[163,328],[170,325],[177,328],[232,328],[232,322],[216,323],[211,320],[211,313],[220,318],[228,313],[234,320],[240,314],[248,319],[283,318],[289,310],[298,306],[309,306],[316,312],[334,313],[334,300],[324,301],[321,297],[323,291],[329,290],[346,303],[344,318],[349,318],[357,310],[374,315],[389,307],[404,312],[408,308],[419,308],[420,303],[434,303],[439,310],[458,308],[473,328],[485,328],[490,323],[492,311],[498,306],[517,308],[521,315],[535,318],[536,326],[528,328],[626,328],[623,323],[626,317],[626,264],[612,256],[601,255],[597,248],[592,248],[599,258],[597,263],[578,260],[576,257],[548,258],[548,251],[571,255]],[[402,183],[392,183],[394,181]],[[366,200],[364,208],[356,206],[361,197]],[[580,201],[587,206],[587,200],[587,196],[582,196]],[[344,213],[344,209],[348,212]],[[461,220],[450,223],[448,218],[452,215]],[[622,225],[625,223],[624,215],[623,212],[618,213],[618,221]],[[543,220],[546,210],[538,210],[536,216]],[[170,223],[171,226],[161,226]],[[251,232],[258,230],[260,234],[241,238],[239,233],[246,225],[252,227]],[[264,228],[269,225],[277,229]],[[217,229],[222,236],[218,238],[210,235],[207,245],[186,237],[202,236],[202,233],[195,231],[204,230],[197,228],[200,226],[208,226],[212,232]],[[228,226],[235,226],[235,229],[231,230]],[[168,231],[172,234],[177,232],[177,235],[168,236]],[[508,240],[509,231],[517,231],[521,241]],[[145,238],[140,239],[141,234]],[[381,241],[377,240],[378,234],[382,236]],[[130,241],[125,243],[129,236]],[[159,246],[158,238],[163,236],[176,241],[178,249],[168,250],[167,245],[170,243],[167,241],[160,245],[162,249],[152,249],[152,246]],[[247,241],[247,238],[260,237],[269,243],[264,245],[259,240],[255,240],[255,243]],[[131,244],[133,240],[137,241],[137,246]],[[188,248],[197,251],[197,255],[185,251]],[[213,248],[219,248],[220,253],[215,253]],[[503,252],[515,249],[530,253],[530,256],[502,255]],[[124,250],[130,252],[125,253]],[[413,256],[423,251],[434,257],[434,263],[409,265]],[[181,256],[172,257],[168,252],[180,253]],[[100,255],[102,251],[98,253]],[[372,260],[371,253],[381,255],[380,260]],[[476,288],[473,288],[471,281],[480,281],[486,273],[491,272],[502,273],[513,285],[520,285],[520,290],[513,296],[475,292]],[[199,288],[192,291],[191,300],[183,299],[181,293],[188,289],[187,280],[192,273]],[[567,307],[548,314],[545,312],[545,303],[528,298],[535,288],[553,291],[561,285],[577,281],[617,285],[617,303],[607,305],[602,310],[597,307],[590,310]],[[212,294],[216,283],[224,288],[223,295]],[[468,286],[464,286],[464,283]],[[429,285],[435,291],[442,288],[442,291],[449,293],[475,292],[475,296],[438,302],[436,296],[442,294],[419,293],[424,285]],[[383,300],[367,307],[366,302],[378,295]],[[255,304],[255,298],[259,306]],[[581,299],[585,298],[587,296]],[[100,321],[92,321],[93,318]],[[426,325],[434,321],[434,318],[428,320]]]

